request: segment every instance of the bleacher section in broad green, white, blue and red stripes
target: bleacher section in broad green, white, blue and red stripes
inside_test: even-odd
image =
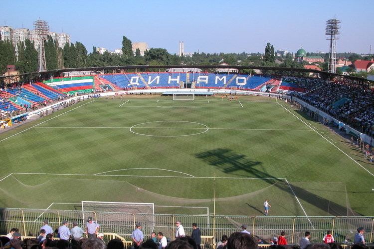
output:
[[[94,89],[94,80],[92,76],[78,76],[69,78],[55,78],[44,82],[60,91],[70,94],[75,92],[92,92]]]

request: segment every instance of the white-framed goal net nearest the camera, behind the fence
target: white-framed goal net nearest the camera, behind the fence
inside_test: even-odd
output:
[[[81,201],[81,204],[83,224],[92,217],[105,231],[128,234],[140,223],[143,231],[150,234],[155,227],[154,203]]]

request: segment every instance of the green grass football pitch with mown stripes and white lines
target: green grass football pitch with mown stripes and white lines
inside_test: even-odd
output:
[[[283,101],[239,101],[85,100],[2,133],[0,205],[146,202],[206,214],[215,189],[220,215],[262,215],[265,199],[269,215],[374,215],[362,152]]]

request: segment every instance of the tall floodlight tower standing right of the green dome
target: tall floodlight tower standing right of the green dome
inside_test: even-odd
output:
[[[326,40],[330,40],[330,59],[329,59],[329,72],[336,72],[336,40],[339,39],[339,28],[341,20],[336,18],[326,21]]]

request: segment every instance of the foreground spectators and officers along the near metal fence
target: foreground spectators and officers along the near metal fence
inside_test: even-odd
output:
[[[69,229],[68,222],[63,221],[61,226],[53,231],[49,226],[48,220],[40,228],[40,234],[35,239],[21,240],[19,230],[13,228],[10,232],[0,237],[0,249],[124,249],[125,244],[119,239],[113,239],[107,243],[104,241],[104,234],[99,233],[100,225],[88,217],[85,230],[78,227],[76,221],[72,222],[72,228]],[[364,239],[364,228],[357,229],[354,245],[351,249],[367,249]],[[85,237],[84,237],[85,235]],[[57,239],[58,238],[58,239]],[[201,231],[196,223],[192,224],[191,236],[187,236],[181,221],[176,222],[175,240],[170,241],[162,232],[152,232],[150,239],[145,240],[142,231],[142,225],[136,224],[136,229],[131,234],[131,249],[201,249],[202,245]],[[321,238],[321,243],[310,242],[311,233],[305,232],[305,236],[300,239],[299,245],[288,245],[286,233],[282,231],[279,237],[274,237],[268,243],[270,248],[274,249],[342,249],[342,246],[335,243],[331,231]],[[216,249],[258,249],[259,245],[265,244],[265,241],[257,236],[253,236],[247,231],[247,225],[241,226],[240,232],[232,233],[229,237],[223,235],[221,240],[216,243]]]

